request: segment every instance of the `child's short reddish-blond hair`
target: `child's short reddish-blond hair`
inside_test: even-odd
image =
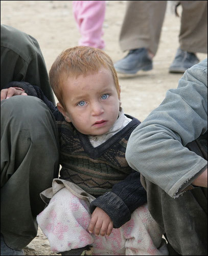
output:
[[[76,46],[61,52],[49,72],[51,87],[61,105],[65,107],[61,85],[67,77],[85,76],[88,73],[98,72],[101,67],[111,71],[115,88],[120,97],[117,72],[111,58],[104,51],[88,46]]]

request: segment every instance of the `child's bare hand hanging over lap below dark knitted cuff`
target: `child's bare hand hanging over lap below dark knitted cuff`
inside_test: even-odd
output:
[[[113,228],[113,223],[108,214],[101,208],[96,207],[93,214],[91,215],[91,221],[88,226],[90,233],[96,235],[110,235]]]

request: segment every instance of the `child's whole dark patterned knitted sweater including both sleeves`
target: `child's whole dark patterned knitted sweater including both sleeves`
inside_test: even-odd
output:
[[[140,121],[126,115],[132,121],[94,148],[88,136],[66,122],[39,87],[25,82],[12,82],[8,87],[21,87],[28,95],[39,97],[53,112],[59,131],[60,179],[73,182],[94,195],[96,200],[90,204],[90,212],[100,207],[110,216],[114,228],[129,221],[131,213],[147,202],[140,173],[134,171],[125,159],[129,136]]]

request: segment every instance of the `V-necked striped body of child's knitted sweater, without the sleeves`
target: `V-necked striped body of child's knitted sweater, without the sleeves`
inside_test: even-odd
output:
[[[77,184],[94,196],[110,191],[114,184],[132,173],[125,159],[125,151],[131,131],[138,124],[133,119],[120,132],[94,148],[88,136],[78,132],[72,123],[58,121],[62,166],[60,178]]]

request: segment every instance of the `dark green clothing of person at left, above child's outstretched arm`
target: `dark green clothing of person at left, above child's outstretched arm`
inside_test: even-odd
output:
[[[11,81],[41,88],[55,105],[44,58],[37,40],[18,29],[1,25],[1,89]]]

